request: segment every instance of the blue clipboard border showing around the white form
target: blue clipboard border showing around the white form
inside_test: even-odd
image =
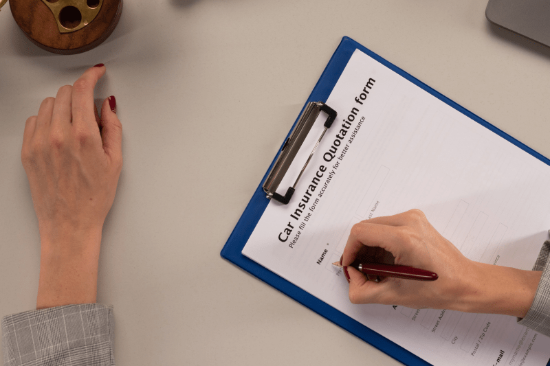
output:
[[[507,139],[512,144],[518,146],[518,148],[525,150],[525,152],[533,155],[533,157],[536,157],[540,161],[546,163],[547,165],[550,165],[550,160],[546,157],[540,155],[538,152],[529,148],[528,146],[525,146],[525,144],[522,144],[520,141],[507,135],[502,130],[499,130],[492,124],[489,124],[489,122],[485,121],[484,119],[481,119],[477,115],[474,115],[474,113],[467,111],[467,109],[459,106],[459,104],[456,104],[449,98],[446,98],[441,93],[438,93],[434,89],[428,87],[428,85],[424,84],[417,78],[410,76],[410,74],[399,69],[399,67],[393,65],[391,62],[384,60],[384,58],[378,56],[370,49],[367,49],[366,47],[353,41],[353,39],[349,37],[342,38],[340,45],[338,45],[336,52],[334,52],[331,59],[329,60],[329,63],[327,67],[325,67],[325,71],[323,71],[323,73],[321,74],[321,77],[314,87],[314,90],[311,91],[311,95],[309,95],[309,98],[307,98],[307,102],[304,104],[302,111],[300,111],[300,115],[303,112],[303,109],[305,108],[307,103],[317,101],[325,102],[327,98],[329,98],[330,93],[332,92],[334,86],[336,85],[336,82],[340,78],[342,71],[344,71],[344,68],[351,58],[351,55],[353,55],[353,52],[355,52],[355,49],[360,49],[360,51],[371,56],[371,58],[377,60],[382,65],[395,71],[400,76],[416,84],[418,87],[421,87],[422,89],[433,95],[435,98],[438,98],[442,102],[445,102],[449,106],[452,106],[452,108],[455,108],[457,111],[463,113],[467,117],[470,117],[471,119],[485,126],[489,130],[492,130],[500,137]],[[297,121],[298,119],[296,119],[296,122]],[[296,122],[294,122],[294,125],[296,125]],[[282,147],[283,146],[281,145],[281,148]],[[279,153],[281,153],[281,149],[279,149]],[[405,350],[403,347],[393,343],[389,339],[386,339],[384,336],[381,336],[377,332],[374,332],[373,330],[367,328],[365,325],[362,325],[358,321],[351,319],[351,317],[348,317],[346,314],[340,312],[339,310],[336,310],[332,306],[329,306],[317,297],[310,295],[305,290],[298,288],[298,286],[295,286],[294,284],[288,282],[286,279],[283,279],[283,277],[276,275],[267,268],[245,257],[241,253],[246,242],[248,241],[248,238],[250,238],[252,231],[254,231],[256,224],[259,222],[261,216],[263,215],[263,211],[265,211],[267,204],[270,202],[270,200],[266,198],[265,192],[263,192],[262,184],[265,181],[267,174],[272,169],[276,158],[277,156],[274,158],[274,161],[272,161],[270,168],[268,168],[267,172],[265,172],[265,175],[263,176],[260,185],[256,188],[256,191],[250,199],[250,202],[243,212],[243,215],[239,219],[239,222],[237,222],[235,228],[233,229],[233,232],[228,238],[228,241],[225,243],[225,246],[221,250],[221,256],[226,260],[229,260],[230,262],[243,268],[245,271],[248,271],[252,275],[258,277],[263,282],[270,284],[277,290],[281,291],[281,293],[292,297],[292,299],[295,299],[300,304],[307,306],[311,310],[314,310],[314,312],[322,315],[322,317],[329,319],[329,321],[332,321],[336,325],[339,325],[348,332],[355,334],[355,336],[358,336],[366,343],[377,347],[377,349],[388,354],[389,356],[392,356],[397,361],[410,366],[430,365],[430,363],[427,363],[423,359],[419,358],[419,356],[412,354],[408,350]],[[550,362],[547,366],[550,366]]]

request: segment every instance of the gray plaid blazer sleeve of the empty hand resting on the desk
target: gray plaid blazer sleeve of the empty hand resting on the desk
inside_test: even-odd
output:
[[[2,319],[4,366],[115,365],[113,307],[58,306]]]

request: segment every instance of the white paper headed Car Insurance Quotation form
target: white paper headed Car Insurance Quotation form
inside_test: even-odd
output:
[[[550,166],[359,50],[327,104],[338,117],[292,200],[270,202],[243,254],[433,365],[546,365],[550,338],[515,317],[353,305],[331,262],[356,222],[418,208],[467,258],[530,270],[550,229]]]

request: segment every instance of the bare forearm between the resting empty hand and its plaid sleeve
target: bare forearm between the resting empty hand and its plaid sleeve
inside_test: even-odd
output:
[[[41,236],[36,308],[96,302],[101,231]]]

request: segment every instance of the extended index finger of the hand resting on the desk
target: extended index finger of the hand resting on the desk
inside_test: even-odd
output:
[[[71,105],[73,124],[85,124],[89,128],[98,129],[94,113],[94,88],[104,73],[104,65],[99,64],[84,71],[74,82]]]

